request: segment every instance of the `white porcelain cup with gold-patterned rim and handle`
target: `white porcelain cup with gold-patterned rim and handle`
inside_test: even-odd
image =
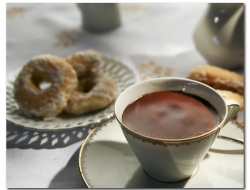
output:
[[[220,123],[211,131],[186,139],[145,137],[127,128],[122,114],[128,104],[156,91],[184,91],[208,101],[218,112]],[[190,177],[205,157],[220,129],[239,111],[235,101],[225,102],[211,87],[184,78],[158,78],[137,83],[124,90],[115,102],[115,116],[146,173],[154,179],[175,182]]]

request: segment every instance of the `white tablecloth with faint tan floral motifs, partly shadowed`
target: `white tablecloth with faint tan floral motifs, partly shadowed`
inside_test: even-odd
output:
[[[119,4],[122,25],[106,33],[82,29],[76,4],[7,4],[7,74],[40,54],[66,56],[94,49],[121,60],[138,74],[140,61],[189,54],[206,3]],[[139,76],[139,74],[138,74]],[[140,75],[140,77],[143,77]],[[142,78],[138,78],[138,80]],[[86,188],[78,154],[95,127],[35,131],[6,122],[7,188]]]

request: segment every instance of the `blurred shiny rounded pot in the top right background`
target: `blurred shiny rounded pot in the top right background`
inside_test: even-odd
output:
[[[208,5],[193,40],[209,64],[225,69],[244,65],[244,8],[243,3]]]

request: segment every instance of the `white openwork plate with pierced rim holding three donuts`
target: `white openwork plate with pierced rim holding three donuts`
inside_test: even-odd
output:
[[[115,80],[118,86],[118,93],[121,93],[127,87],[136,82],[137,79],[134,72],[124,63],[106,56],[103,56],[102,60],[103,61],[99,67],[99,72],[106,73]],[[26,117],[19,110],[19,107],[13,97],[13,83],[19,71],[20,69],[10,73],[7,77],[6,84],[6,118],[12,123],[33,129],[58,130],[71,129],[75,127],[87,126],[93,123],[99,123],[113,116],[114,106],[111,104],[101,111],[80,116],[60,114],[57,117],[49,119],[34,119]]]

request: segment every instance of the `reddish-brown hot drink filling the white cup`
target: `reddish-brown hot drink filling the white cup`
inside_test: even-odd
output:
[[[153,138],[185,139],[204,134],[219,123],[205,100],[182,92],[158,91],[129,104],[122,122],[132,131]]]

